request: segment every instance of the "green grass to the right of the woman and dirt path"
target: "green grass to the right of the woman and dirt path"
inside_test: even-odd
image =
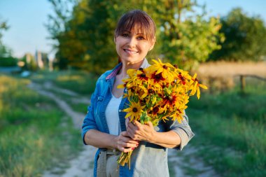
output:
[[[198,155],[222,176],[266,176],[266,83],[202,94],[188,111]]]

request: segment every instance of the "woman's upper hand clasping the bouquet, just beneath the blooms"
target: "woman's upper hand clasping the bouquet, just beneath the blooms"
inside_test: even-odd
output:
[[[129,119],[127,119],[126,124],[127,134],[130,136],[131,139],[137,141],[153,141],[156,131],[151,122],[147,122],[147,124],[142,125],[136,120],[129,122]]]

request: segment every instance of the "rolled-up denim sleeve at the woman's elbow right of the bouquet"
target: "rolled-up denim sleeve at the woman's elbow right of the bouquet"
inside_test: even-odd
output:
[[[180,146],[177,146],[175,149],[182,150],[184,146],[188,144],[188,141],[193,138],[194,134],[188,125],[188,116],[186,113],[183,115],[183,120],[179,123],[177,120],[167,120],[167,131],[172,130],[179,134],[181,139]]]

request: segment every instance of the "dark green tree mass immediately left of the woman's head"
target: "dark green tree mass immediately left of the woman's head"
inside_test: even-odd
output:
[[[53,6],[58,10],[59,1],[55,1],[52,1]],[[122,14],[119,3],[82,0],[73,6],[69,20],[65,20],[60,10],[57,16],[64,20],[58,22],[57,17],[50,17],[54,24],[48,25],[52,29],[50,34],[58,41],[57,62],[98,74],[117,64],[113,31]],[[59,24],[64,24],[64,28],[59,28],[62,27]]]

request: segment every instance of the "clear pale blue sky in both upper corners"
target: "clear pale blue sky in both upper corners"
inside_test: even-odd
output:
[[[260,15],[266,24],[265,0],[197,0],[206,4],[208,15],[225,16],[232,8],[240,7],[248,15]],[[15,57],[26,52],[35,54],[36,50],[47,52],[54,57],[52,41],[44,24],[48,23],[48,14],[52,14],[52,5],[48,0],[0,0],[0,20],[7,20],[10,29],[3,32],[2,42],[13,50]]]

